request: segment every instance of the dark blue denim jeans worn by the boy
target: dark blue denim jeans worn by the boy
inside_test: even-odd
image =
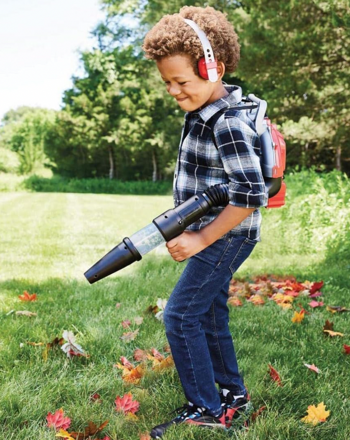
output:
[[[186,399],[221,414],[220,388],[246,392],[228,329],[228,287],[255,240],[220,238],[187,262],[164,310],[165,332]]]

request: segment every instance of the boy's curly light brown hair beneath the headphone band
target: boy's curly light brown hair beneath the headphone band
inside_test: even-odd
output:
[[[226,72],[234,72],[240,59],[241,46],[226,16],[226,13],[216,11],[211,6],[183,6],[179,13],[163,16],[146,34],[141,48],[145,57],[153,60],[189,54],[194,73],[199,76],[197,62],[204,56],[204,51],[197,34],[183,20],[190,18],[207,35],[217,61],[225,64]]]

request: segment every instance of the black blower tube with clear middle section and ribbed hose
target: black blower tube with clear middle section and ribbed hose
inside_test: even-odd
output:
[[[266,178],[265,186],[269,197],[280,190],[281,178]],[[279,181],[279,182],[277,182]],[[228,204],[228,184],[219,183],[207,188],[202,194],[194,194],[173,209],[158,215],[151,224],[125,237],[119,245],[111,249],[85,273],[90,284],[102,280],[150,252],[161,243],[168,242],[180,235],[188,226],[199,220],[213,206]]]

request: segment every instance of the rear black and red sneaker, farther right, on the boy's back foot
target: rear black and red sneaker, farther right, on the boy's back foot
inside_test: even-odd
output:
[[[221,406],[225,411],[226,428],[248,428],[249,416],[253,410],[248,392],[235,396],[232,391],[220,390]]]

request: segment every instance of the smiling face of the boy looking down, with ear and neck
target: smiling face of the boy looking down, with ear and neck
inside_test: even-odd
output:
[[[168,93],[174,96],[178,105],[185,111],[203,108],[228,94],[221,82],[225,72],[223,63],[218,63],[218,81],[211,83],[194,73],[190,60],[190,55],[184,54],[168,56],[157,61],[157,68]],[[181,101],[182,98],[185,99]]]

